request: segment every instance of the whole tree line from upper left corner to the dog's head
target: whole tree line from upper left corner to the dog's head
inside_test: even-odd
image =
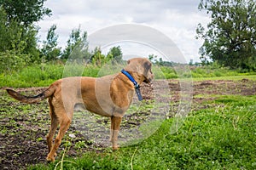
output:
[[[0,70],[17,71],[26,65],[59,60],[65,62],[74,48],[83,45],[85,53],[79,59],[86,63],[102,65],[109,60],[122,60],[121,48],[113,47],[105,56],[101,48],[88,50],[87,32],[74,28],[62,50],[58,47],[57,26],[50,26],[45,40],[39,46],[39,20],[50,16],[52,11],[44,7],[46,0],[1,0],[0,2]],[[84,49],[85,47],[85,49]]]

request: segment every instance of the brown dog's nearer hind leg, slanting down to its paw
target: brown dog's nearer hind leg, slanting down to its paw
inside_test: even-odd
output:
[[[60,122],[60,129],[59,133],[55,138],[55,144],[51,147],[51,150],[49,151],[49,154],[47,156],[47,161],[55,161],[55,152],[58,150],[60,144],[61,144],[61,139],[64,137],[70,123],[71,123],[71,118],[67,116],[66,111],[64,108],[61,109],[61,111],[55,111],[56,116],[58,117],[58,120]]]

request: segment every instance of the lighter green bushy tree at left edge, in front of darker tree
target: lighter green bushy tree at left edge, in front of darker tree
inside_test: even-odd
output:
[[[38,31],[33,27],[25,31],[15,20],[6,23],[7,14],[0,7],[0,70],[10,72],[38,60]]]

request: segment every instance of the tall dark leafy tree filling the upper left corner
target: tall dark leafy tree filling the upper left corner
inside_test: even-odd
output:
[[[44,8],[45,0],[1,0],[0,1],[0,52],[29,56],[30,62],[39,61],[38,28],[34,22],[50,15]],[[29,63],[26,58],[26,63]]]

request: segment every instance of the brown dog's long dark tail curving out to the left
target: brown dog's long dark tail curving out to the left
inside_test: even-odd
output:
[[[36,96],[25,96],[15,92],[15,90],[12,90],[12,89],[6,89],[6,91],[11,97],[19,100],[22,103],[34,104],[34,103],[38,103],[39,101],[42,101],[43,99],[47,99],[52,94],[54,94],[55,86],[50,86],[47,90],[45,90],[44,92]]]

